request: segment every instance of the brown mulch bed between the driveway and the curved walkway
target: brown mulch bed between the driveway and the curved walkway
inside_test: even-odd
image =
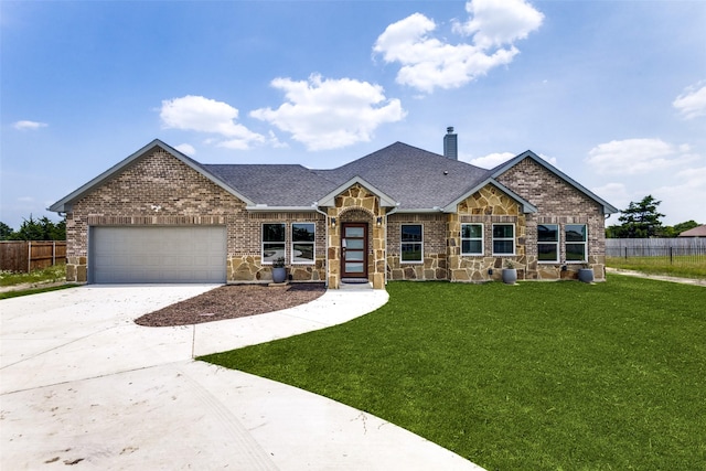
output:
[[[139,325],[190,325],[279,311],[313,301],[323,283],[285,286],[228,285],[178,302],[135,320]]]

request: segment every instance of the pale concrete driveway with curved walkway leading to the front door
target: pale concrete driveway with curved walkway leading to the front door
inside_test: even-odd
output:
[[[328,291],[298,308],[175,328],[139,315],[214,286],[87,286],[0,301],[0,468],[480,470],[377,417],[191,360],[375,310]]]

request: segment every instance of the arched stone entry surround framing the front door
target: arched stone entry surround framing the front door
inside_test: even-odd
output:
[[[377,217],[384,216],[384,211],[378,197],[355,183],[335,197],[328,215],[336,218],[336,225],[329,227],[329,288],[336,289],[341,285],[342,223],[360,222],[368,224],[367,278],[373,288],[385,289],[385,226],[376,222]]]

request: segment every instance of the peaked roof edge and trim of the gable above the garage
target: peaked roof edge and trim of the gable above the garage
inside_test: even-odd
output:
[[[232,195],[236,196],[237,199],[242,200],[246,204],[253,204],[253,202],[249,199],[247,199],[246,196],[237,192],[235,189],[233,189],[231,185],[222,181],[216,175],[208,172],[203,165],[201,165],[195,160],[183,154],[182,152],[178,151],[171,146],[165,144],[161,140],[154,139],[147,146],[142,147],[137,152],[130,154],[129,157],[118,162],[117,164],[113,165],[110,169],[106,170],[95,179],[90,180],[89,182],[82,185],[77,190],[73,191],[72,193],[67,194],[63,199],[58,200],[56,203],[52,204],[49,207],[49,211],[53,211],[57,213],[64,213],[64,212],[71,211],[71,207],[75,201],[81,200],[83,196],[85,196],[89,192],[96,190],[98,186],[114,179],[115,176],[120,174],[126,168],[128,168],[132,162],[137,161],[138,159],[141,159],[145,156],[150,154],[154,149],[158,149],[158,148],[170,153],[176,160],[181,161],[192,170],[201,173],[203,176],[212,181],[214,184],[222,188],[223,190],[231,193]]]

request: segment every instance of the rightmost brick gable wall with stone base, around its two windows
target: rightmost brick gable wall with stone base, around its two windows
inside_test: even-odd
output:
[[[577,278],[581,264],[563,264],[564,225],[588,226],[588,264],[596,280],[606,279],[606,218],[602,207],[547,169],[527,158],[496,179],[520,196],[534,204],[538,212],[527,215],[527,279]],[[558,224],[560,231],[559,264],[537,261],[537,225]],[[561,270],[566,266],[567,270]]]

